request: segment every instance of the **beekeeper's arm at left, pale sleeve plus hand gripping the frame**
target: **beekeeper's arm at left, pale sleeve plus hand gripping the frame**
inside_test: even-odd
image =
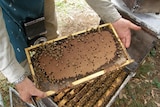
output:
[[[31,96],[45,97],[45,93],[38,90],[34,84],[24,77],[25,70],[17,62],[14,50],[9,41],[2,10],[0,8],[0,71],[9,82],[15,83],[20,97],[30,102]]]

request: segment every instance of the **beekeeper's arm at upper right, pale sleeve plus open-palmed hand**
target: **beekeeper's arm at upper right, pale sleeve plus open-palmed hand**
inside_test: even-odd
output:
[[[122,18],[110,0],[86,0],[86,2],[105,23],[112,23],[122,43],[128,48],[131,42],[130,29],[139,30],[141,28]]]

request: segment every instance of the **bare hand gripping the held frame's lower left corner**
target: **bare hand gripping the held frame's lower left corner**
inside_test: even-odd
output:
[[[46,97],[46,94],[35,87],[33,82],[25,78],[22,82],[16,84],[16,89],[20,94],[20,98],[24,102],[32,103],[31,97],[37,96],[40,98]]]

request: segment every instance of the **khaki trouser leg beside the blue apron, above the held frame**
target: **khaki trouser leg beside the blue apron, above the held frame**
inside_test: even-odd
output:
[[[47,39],[54,39],[58,37],[57,34],[57,18],[55,13],[54,0],[44,0],[44,16],[45,26],[47,29]]]

